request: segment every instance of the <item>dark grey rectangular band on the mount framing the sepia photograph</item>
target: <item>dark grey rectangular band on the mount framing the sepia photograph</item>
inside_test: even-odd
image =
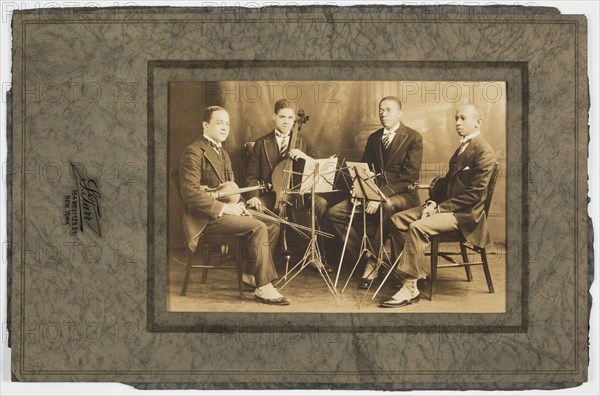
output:
[[[157,146],[155,144],[155,134],[162,134],[165,131],[160,130],[156,131],[155,124],[155,107],[156,107],[156,92],[155,92],[155,72],[157,70],[205,70],[205,69],[219,69],[224,72],[231,72],[234,69],[260,69],[260,68],[283,68],[286,70],[289,69],[307,69],[307,68],[330,68],[333,72],[339,68],[417,68],[417,69],[433,69],[433,70],[452,70],[455,73],[461,73],[462,70],[469,70],[472,72],[474,70],[486,70],[489,73],[497,72],[508,72],[508,71],[518,71],[520,73],[520,86],[515,89],[517,93],[520,94],[519,97],[508,97],[506,101],[506,109],[507,114],[505,115],[505,120],[507,122],[506,129],[507,134],[505,136],[505,140],[507,142],[507,153],[506,153],[506,161],[507,165],[510,164],[508,153],[510,146],[508,141],[510,139],[510,130],[508,122],[509,122],[509,109],[511,105],[520,105],[520,112],[522,114],[521,119],[521,136],[519,139],[523,142],[521,146],[521,153],[519,160],[523,164],[522,169],[528,169],[529,163],[528,158],[526,156],[528,150],[527,144],[527,135],[529,133],[528,130],[528,120],[527,114],[529,111],[529,92],[525,87],[529,86],[529,74],[528,74],[528,65],[527,62],[514,62],[514,61],[299,61],[299,60],[286,60],[286,61],[267,61],[267,60],[207,60],[207,61],[164,61],[164,60],[150,60],[148,61],[148,88],[147,88],[147,102],[148,102],[148,232],[147,232],[147,243],[148,243],[148,323],[147,329],[152,332],[208,332],[208,333],[220,333],[220,332],[264,332],[265,329],[267,331],[282,331],[282,332],[312,332],[312,331],[325,331],[325,332],[374,332],[374,331],[394,331],[394,332],[423,332],[423,333],[438,333],[438,332],[464,332],[469,331],[472,333],[490,333],[490,332],[502,332],[502,333],[512,333],[519,332],[525,333],[528,330],[528,288],[526,285],[528,284],[528,266],[529,266],[529,252],[527,249],[521,249],[520,263],[521,263],[521,299],[520,299],[520,320],[518,323],[512,322],[510,324],[498,325],[498,319],[501,317],[507,317],[510,314],[510,307],[508,306],[508,296],[506,297],[505,303],[507,305],[507,311],[505,313],[469,313],[469,312],[460,312],[460,313],[410,313],[403,314],[401,312],[389,312],[382,310],[381,313],[361,313],[361,312],[352,312],[352,313],[323,313],[323,312],[294,312],[294,313],[245,313],[243,311],[238,312],[177,312],[170,313],[166,310],[166,301],[163,301],[163,293],[157,294],[157,290],[162,287],[166,289],[166,282],[163,283],[164,279],[162,276],[157,276],[157,266],[164,266],[167,263],[161,263],[157,260],[156,250],[160,249],[156,242],[155,235],[155,211],[156,207],[154,204],[156,202],[156,189],[164,187],[165,189],[169,188],[169,180],[158,180],[157,181],[157,172],[156,172],[156,161],[155,154],[157,150]],[[465,75],[467,71],[463,72]],[[334,73],[330,73],[332,75]],[[483,73],[483,78],[479,78],[482,76],[478,75],[476,79],[455,79],[455,80],[446,80],[439,79],[440,81],[497,81],[498,78],[495,76],[491,76],[489,78],[485,78],[485,72]],[[224,77],[223,80],[228,78]],[[162,79],[164,80],[164,79]],[[168,79],[167,79],[168,80]],[[217,79],[218,80],[218,79]],[[256,80],[239,80],[239,81],[258,81]],[[271,80],[284,80],[279,78],[272,78]],[[286,78],[285,80],[290,80]],[[302,79],[307,80],[307,79]],[[317,79],[315,79],[316,81]],[[188,81],[188,80],[185,80]],[[238,80],[236,80],[238,81]],[[300,81],[300,80],[297,80]],[[343,81],[343,80],[320,80],[320,81]],[[345,80],[344,80],[345,81]],[[358,81],[358,80],[357,80]],[[362,80],[365,81],[365,80]],[[368,80],[370,81],[381,81],[381,80]],[[423,80],[423,79],[414,79],[414,80],[399,80],[399,81],[415,81],[415,82],[427,82],[427,81],[436,81],[436,80]],[[172,80],[168,80],[168,82],[172,82]],[[360,81],[358,81],[360,82]],[[508,82],[507,82],[508,83]],[[509,89],[507,84],[507,95]],[[164,93],[166,94],[166,92]],[[167,101],[168,103],[168,101]],[[514,103],[514,104],[513,104]],[[162,136],[162,135],[160,135]],[[513,136],[514,138],[514,136]],[[159,145],[158,147],[162,147]],[[168,150],[168,147],[165,146],[165,150]],[[151,153],[151,154],[150,154]],[[514,155],[514,153],[513,153]],[[441,162],[446,161],[447,158],[441,159]],[[168,173],[168,172],[167,172]],[[507,169],[502,169],[501,173],[503,177],[506,178],[506,198],[508,205],[508,192],[510,190],[509,185],[514,183],[509,180],[507,177]],[[527,212],[527,184],[529,182],[527,172],[521,172],[519,175],[520,188],[519,193],[522,196],[523,202],[521,202],[521,216],[522,222],[521,226],[524,229],[527,226],[527,221],[529,218],[529,214]],[[167,207],[168,207],[168,203]],[[160,209],[160,208],[159,208]],[[166,208],[165,208],[166,209]],[[508,225],[508,211],[504,208],[505,211],[505,227]],[[161,227],[162,229],[162,227]],[[505,241],[505,262],[504,265],[506,267],[506,272],[509,271],[509,246],[508,243],[511,240],[508,237],[508,228],[506,229],[506,241]],[[521,233],[519,238],[513,238],[512,240],[518,240],[521,246],[528,246],[527,243],[527,235],[526,233]],[[165,246],[165,252],[167,247]],[[168,258],[168,255],[165,254],[165,258]],[[518,264],[518,263],[517,263]],[[162,272],[161,272],[162,273]],[[508,276],[505,280],[504,287],[508,289]],[[168,296],[167,296],[168,297]],[[235,302],[234,302],[235,303]],[[252,317],[248,317],[248,314],[251,314]],[[378,325],[370,325],[364,324],[364,322],[373,322],[371,319],[383,319],[383,315],[386,315],[386,324],[378,324]],[[334,319],[331,319],[330,315],[334,316]],[[358,315],[359,317],[363,317],[363,323],[358,323],[355,320],[354,316]],[[488,321],[489,325],[461,325],[461,324],[449,324],[449,325],[439,325],[439,317],[461,317],[461,315],[469,315],[471,317],[475,317],[481,315],[484,318],[484,322]],[[187,320],[181,320],[182,317],[187,316]],[[395,317],[393,320],[390,320],[389,317]],[[464,316],[462,316],[464,318]],[[426,321],[423,325],[414,324],[417,321],[426,318]],[[438,318],[436,320],[436,318]],[[458,320],[460,321],[460,320]],[[192,322],[194,324],[186,324],[184,322]],[[267,323],[266,325],[255,324],[255,322]],[[319,324],[315,324],[319,323]],[[326,323],[323,325],[323,323]],[[433,323],[433,325],[432,325]]]

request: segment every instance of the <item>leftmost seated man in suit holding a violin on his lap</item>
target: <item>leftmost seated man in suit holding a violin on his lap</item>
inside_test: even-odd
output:
[[[271,283],[277,278],[270,246],[279,235],[279,224],[264,223],[248,216],[243,201],[223,203],[206,193],[206,187],[217,187],[234,181],[231,159],[222,147],[229,136],[229,114],[220,106],[204,110],[203,136],[184,151],[179,165],[181,196],[184,202],[184,232],[187,248],[194,252],[200,235],[206,233],[248,232],[246,274],[255,282],[256,298],[266,304],[287,305]],[[251,283],[251,277],[244,276]]]

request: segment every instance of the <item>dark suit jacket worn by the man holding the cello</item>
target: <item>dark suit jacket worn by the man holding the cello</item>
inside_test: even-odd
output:
[[[302,133],[298,133],[298,136],[296,137],[296,147],[294,148],[304,151],[313,158],[316,156],[309,140]],[[277,146],[275,130],[272,130],[266,135],[258,138],[254,144],[246,169],[246,185],[255,186],[261,182],[271,183],[273,169],[278,163],[279,146]],[[258,191],[246,193],[247,198],[258,197],[259,195],[260,193]]]

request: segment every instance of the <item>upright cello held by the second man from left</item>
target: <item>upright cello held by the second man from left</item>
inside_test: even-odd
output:
[[[298,132],[300,132],[302,125],[306,124],[310,118],[310,116],[307,116],[302,109],[298,110],[297,116],[290,132],[290,144],[288,144],[284,154],[285,159],[275,166],[271,175],[273,192],[275,193],[275,203],[279,207],[280,213],[284,213],[283,208],[287,203],[287,192],[292,189],[294,161],[289,157],[289,152],[296,147]]]

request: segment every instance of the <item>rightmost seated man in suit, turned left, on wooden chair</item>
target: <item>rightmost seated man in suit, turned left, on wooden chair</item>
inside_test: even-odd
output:
[[[406,280],[400,291],[380,303],[382,307],[403,307],[419,301],[417,280],[426,276],[425,249],[431,236],[458,230],[476,246],[489,243],[484,205],[496,157],[480,135],[482,114],[476,106],[459,107],[454,118],[461,144],[446,174],[448,199],[429,200],[424,208],[397,213],[390,220],[394,251],[402,252],[398,270]]]

